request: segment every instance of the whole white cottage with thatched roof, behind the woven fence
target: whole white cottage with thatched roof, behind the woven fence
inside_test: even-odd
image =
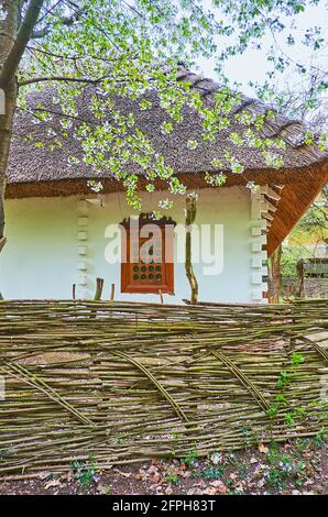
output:
[[[182,72],[179,80],[190,81],[205,103],[212,106],[219,89],[216,82],[187,70]],[[51,125],[58,128],[62,113],[58,107],[52,106],[52,94],[45,90],[42,101],[53,112]],[[31,108],[37,110],[39,102],[40,95],[32,95]],[[230,127],[221,130],[215,142],[203,140],[201,119],[192,108],[184,110],[183,122],[171,134],[162,134],[160,128],[167,121],[167,113],[155,95],[150,110],[140,110],[138,103],[125,99],[118,99],[117,105],[124,112],[133,112],[136,125],[156,152],[174,167],[189,191],[198,194],[192,235],[199,300],[265,302],[267,255],[288,234],[327,182],[327,154],[316,145],[304,143],[306,128],[302,122],[280,114],[274,119],[266,117],[269,107],[245,97],[240,98],[229,114]],[[80,120],[90,120],[87,106],[86,100],[80,102]],[[256,147],[231,142],[232,131],[242,134],[245,130],[242,118],[237,122],[237,113],[264,117],[261,134],[285,141],[285,148],[276,151],[283,158],[283,168],[269,167]],[[63,299],[72,298],[73,293],[77,298],[92,298],[97,277],[105,280],[102,298],[106,299],[113,292],[119,300],[158,301],[160,295],[166,302],[189,298],[185,271],[185,196],[175,196],[174,207],[165,212],[167,219],[157,223],[164,251],[156,250],[155,240],[147,248],[153,257],[144,261],[142,246],[154,235],[142,231],[154,222],[147,215],[168,196],[165,184],[158,183],[154,193],[145,191],[144,170],[133,165],[143,201],[135,237],[130,223],[135,223],[136,213],[127,206],[122,185],[108,173],[96,173],[83,160],[69,165],[69,156],[81,154],[74,139],[64,139],[63,146],[51,152],[50,122],[34,124],[32,119],[31,113],[18,113],[15,120],[17,138],[11,148],[7,186],[8,244],[0,254],[3,298]],[[45,145],[35,147],[29,142],[31,135],[42,139]],[[190,148],[190,140],[198,142],[196,148]],[[220,169],[215,165],[216,158],[223,157],[227,150],[243,166],[243,173],[233,173],[231,162],[225,158]],[[206,173],[217,175],[222,170],[227,177],[225,185],[211,187]],[[95,177],[101,180],[100,194],[92,193],[88,186],[88,179]],[[249,182],[260,185],[260,189],[252,193]],[[165,237],[164,228],[168,229]],[[122,229],[127,231],[128,248],[121,239]],[[136,250],[135,258],[133,250]]]

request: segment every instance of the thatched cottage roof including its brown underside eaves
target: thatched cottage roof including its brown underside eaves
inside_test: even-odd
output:
[[[208,107],[214,105],[215,94],[220,89],[220,85],[185,69],[181,70],[177,79],[192,82],[193,88],[199,91],[205,105]],[[91,92],[92,88],[87,87],[79,98],[77,102],[78,118],[79,121],[94,121],[99,124],[99,121],[92,118],[88,109]],[[271,239],[271,251],[297,222],[300,215],[328,178],[328,153],[319,151],[315,144],[305,145],[306,125],[300,121],[291,120],[282,114],[276,114],[272,119],[269,117],[269,113],[272,111],[271,107],[259,100],[240,96],[239,102],[228,114],[230,127],[227,130],[221,130],[215,142],[205,142],[201,136],[204,133],[203,120],[194,109],[184,108],[183,122],[175,124],[174,131],[171,134],[163,134],[161,125],[163,122],[170,122],[170,117],[161,108],[158,97],[154,91],[147,94],[146,98],[152,102],[150,110],[141,110],[139,102],[120,96],[117,97],[116,105],[125,114],[133,112],[135,125],[143,131],[155,151],[165,157],[166,164],[171,165],[176,174],[182,176],[187,186],[193,188],[208,186],[204,175],[207,172],[218,172],[218,168],[212,163],[216,158],[223,162],[223,167],[220,167],[220,170],[228,175],[227,186],[245,185],[248,180],[255,180],[262,185],[289,185],[291,191],[288,196],[282,195],[282,200],[276,211],[278,229],[276,229],[275,239]],[[88,189],[86,179],[95,177],[105,179],[103,186],[107,191],[122,189],[118,182],[109,178],[108,173],[95,173],[90,166],[83,162],[80,142],[74,138],[63,141],[63,147],[54,148],[52,152],[48,151],[47,145],[36,148],[33,143],[23,141],[26,135],[31,134],[35,140],[45,141],[50,144],[54,136],[48,135],[48,128],[53,128],[55,131],[58,130],[62,116],[58,106],[53,103],[53,91],[45,89],[42,94],[30,96],[29,102],[32,107],[37,107],[40,101],[54,112],[53,119],[48,122],[35,124],[33,117],[29,112],[17,113],[14,124],[15,140],[12,143],[10,153],[7,196],[26,197],[83,194]],[[241,133],[245,129],[240,122],[237,122],[234,117],[237,113],[242,112],[264,116],[261,135],[272,139],[278,138],[285,141],[285,150],[276,151],[283,158],[283,168],[278,170],[271,168],[265,163],[261,150],[248,144],[234,145],[229,140],[229,135],[232,132]],[[74,130],[72,129],[70,131]],[[198,142],[198,146],[195,150],[189,148],[188,142],[190,140]],[[227,150],[244,166],[245,169],[242,174],[231,173],[230,164],[223,160]],[[74,166],[69,165],[68,161],[72,155],[79,157],[80,163]],[[140,175],[140,187],[142,188],[144,172],[135,164],[130,164],[129,168],[131,172],[133,170]],[[297,188],[295,187],[296,185]],[[158,183],[157,187],[165,188],[165,185]],[[293,198],[293,205],[288,207],[293,193],[296,193],[297,199]],[[289,212],[289,208],[292,212]],[[281,216],[280,211],[282,212]],[[274,226],[274,222],[272,226]]]

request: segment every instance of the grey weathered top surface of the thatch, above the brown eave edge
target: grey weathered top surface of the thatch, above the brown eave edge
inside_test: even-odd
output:
[[[194,89],[200,92],[205,107],[211,108],[215,103],[215,95],[220,89],[217,82],[203,79],[196,74],[182,72],[179,80],[186,80],[194,84]],[[89,110],[91,96],[96,94],[92,86],[86,87],[77,101],[78,120],[90,124],[102,124],[102,121],[95,119]],[[61,179],[108,177],[108,173],[96,173],[91,166],[87,166],[81,161],[74,167],[68,166],[68,157],[74,155],[83,157],[80,143],[74,139],[74,127],[68,130],[69,139],[63,141],[64,147],[48,152],[44,148],[34,148],[33,144],[23,142],[22,139],[29,134],[34,139],[52,143],[53,135],[47,135],[47,130],[53,128],[58,131],[61,119],[61,107],[54,103],[55,91],[45,89],[42,94],[30,96],[30,107],[37,108],[42,105],[51,112],[53,119],[44,123],[35,124],[35,120],[28,112],[18,112],[15,119],[14,133],[18,138],[13,142],[8,180],[9,184],[25,182],[53,182]],[[245,129],[240,122],[236,121],[236,114],[250,112],[253,116],[266,116],[272,111],[271,107],[259,100],[241,96],[237,105],[228,113],[230,127],[221,130],[215,142],[205,142],[203,139],[203,120],[193,108],[186,107],[183,111],[183,122],[174,124],[174,131],[171,134],[163,134],[161,125],[163,122],[172,121],[167,112],[161,108],[160,99],[155,91],[146,94],[146,99],[151,100],[152,108],[142,110],[138,101],[132,101],[127,97],[116,97],[116,108],[123,114],[132,112],[135,118],[135,125],[140,128],[145,136],[152,143],[154,150],[165,157],[167,165],[171,165],[176,174],[199,174],[205,172],[216,172],[217,167],[212,164],[215,158],[220,158],[223,163],[221,169],[229,170],[230,164],[225,162],[223,155],[227,150],[241,163],[248,170],[260,172],[267,169],[261,150],[241,145],[234,145],[229,135],[231,132],[240,134]],[[58,113],[58,114],[56,114]],[[225,116],[225,113],[222,113]],[[110,122],[110,116],[109,116]],[[264,138],[282,138],[286,142],[286,150],[280,154],[284,160],[284,168],[289,172],[298,172],[299,176],[307,174],[307,167],[319,164],[327,160],[328,154],[320,152],[316,145],[305,145],[304,136],[307,128],[297,120],[291,120],[282,114],[275,116],[274,120],[265,118],[265,123],[261,130]],[[196,140],[199,145],[190,150],[187,145],[189,140]],[[144,174],[144,170],[136,164],[130,164],[128,170]]]

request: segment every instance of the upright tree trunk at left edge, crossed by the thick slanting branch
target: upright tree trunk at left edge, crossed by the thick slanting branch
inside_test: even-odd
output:
[[[0,68],[2,69],[18,33],[21,1],[2,0],[1,7],[7,14],[6,19],[0,21]],[[3,204],[13,116],[18,96],[15,77],[6,85],[3,92],[4,114],[0,114],[0,251],[6,242]],[[1,112],[3,112],[3,110],[1,110]]]

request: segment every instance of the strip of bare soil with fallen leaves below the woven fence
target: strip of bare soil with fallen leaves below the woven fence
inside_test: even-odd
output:
[[[328,442],[318,436],[198,459],[152,460],[98,471],[73,463],[63,474],[0,476],[1,495],[328,494]]]

